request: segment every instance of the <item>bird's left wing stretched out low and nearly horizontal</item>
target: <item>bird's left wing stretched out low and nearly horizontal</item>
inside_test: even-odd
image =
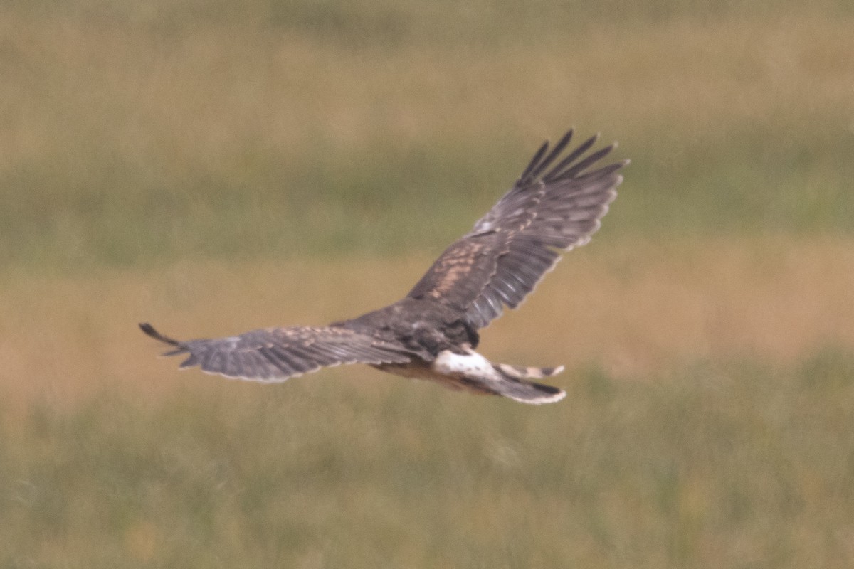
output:
[[[148,323],[145,334],[174,349],[164,356],[187,354],[181,368],[201,366],[202,371],[226,377],[265,382],[284,381],[341,363],[408,363],[401,345],[337,327],[265,328],[216,340],[173,340]]]

